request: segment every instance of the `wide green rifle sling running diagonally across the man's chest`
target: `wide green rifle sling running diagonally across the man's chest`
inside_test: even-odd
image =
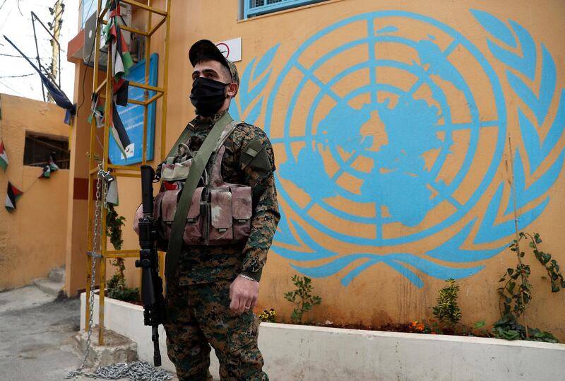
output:
[[[169,246],[167,247],[167,257],[165,259],[165,276],[167,281],[172,281],[179,265],[180,254],[182,250],[182,241],[184,234],[184,225],[186,225],[186,216],[189,213],[189,206],[194,195],[194,191],[198,186],[198,181],[206,168],[206,163],[210,160],[210,156],[214,151],[216,142],[220,139],[222,131],[232,122],[232,117],[227,112],[214,124],[212,130],[204,139],[202,146],[198,149],[194,162],[191,165],[189,176],[186,177],[184,188],[182,189],[177,211],[174,213],[174,219],[171,225],[171,233],[169,235]]]

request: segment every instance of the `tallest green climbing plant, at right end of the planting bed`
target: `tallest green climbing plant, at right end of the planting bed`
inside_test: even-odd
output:
[[[516,252],[518,264],[516,268],[506,269],[504,276],[499,282],[504,286],[498,288],[500,300],[504,308],[501,308],[501,319],[493,324],[492,333],[501,339],[526,339],[533,341],[559,342],[549,332],[543,332],[537,328],[528,327],[526,319],[526,307],[532,300],[532,284],[530,283],[530,265],[522,262],[525,252],[520,249],[521,240],[528,242],[528,247],[537,259],[544,266],[552,293],[557,293],[561,288],[565,288],[565,279],[559,272],[559,264],[552,259],[552,254],[542,252],[537,245],[542,243],[538,233],[519,233],[516,240],[510,245],[510,250]],[[522,317],[523,324],[519,322]]]

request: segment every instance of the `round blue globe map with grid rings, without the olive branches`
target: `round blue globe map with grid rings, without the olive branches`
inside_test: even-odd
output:
[[[415,28],[398,26],[410,23]],[[351,25],[364,35],[345,31]],[[317,42],[341,30],[348,40],[321,52]],[[413,58],[379,57],[389,45]],[[474,72],[452,59],[462,50]],[[334,69],[328,62],[340,54],[347,66]],[[393,78],[412,82],[383,77],[391,68],[400,73]],[[343,90],[356,75],[355,86]],[[472,83],[479,76],[488,87]],[[484,96],[492,98],[494,115],[477,102]],[[285,110],[283,118],[273,118],[275,107]],[[328,111],[316,117],[323,107]],[[454,115],[462,109],[463,121]],[[297,49],[273,86],[266,131],[284,147],[278,188],[302,221],[351,244],[398,245],[448,228],[475,206],[504,151],[506,105],[496,73],[463,35],[416,13],[382,11],[341,20]],[[494,150],[482,149],[485,139]]]

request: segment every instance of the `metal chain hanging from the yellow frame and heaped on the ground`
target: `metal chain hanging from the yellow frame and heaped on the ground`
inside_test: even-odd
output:
[[[129,377],[133,381],[167,381],[172,380],[172,375],[167,373],[166,370],[154,368],[150,363],[143,363],[141,361],[134,361],[132,363],[117,363],[105,367],[98,367],[94,373],[87,373],[84,371],[88,353],[90,353],[90,335],[93,333],[93,318],[94,318],[94,288],[96,282],[96,259],[101,258],[102,255],[102,224],[100,218],[102,217],[102,205],[100,199],[104,196],[104,206],[107,207],[107,188],[108,184],[103,180],[107,175],[102,169],[102,163],[98,164],[98,181],[96,182],[96,201],[95,201],[95,214],[94,214],[94,234],[93,234],[93,251],[90,252],[93,258],[93,267],[90,276],[90,319],[88,320],[88,333],[86,336],[86,349],[84,352],[83,361],[76,370],[69,372],[66,379],[78,377],[83,375],[91,378],[102,378],[105,380],[119,380],[120,378]],[[104,188],[101,189],[101,184]],[[102,192],[101,192],[102,191]]]

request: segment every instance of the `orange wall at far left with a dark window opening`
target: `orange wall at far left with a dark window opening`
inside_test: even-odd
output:
[[[57,105],[1,94],[0,134],[10,163],[1,172],[0,188],[8,180],[24,194],[17,209],[0,209],[0,290],[28,284],[64,265],[69,170],[37,179],[42,169],[23,165],[26,132],[69,136],[64,110]]]

